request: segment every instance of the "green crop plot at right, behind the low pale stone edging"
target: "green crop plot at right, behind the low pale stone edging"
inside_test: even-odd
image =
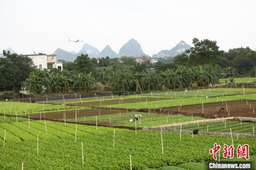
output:
[[[225,129],[225,122],[226,122],[226,129]],[[199,125],[199,126],[198,126]],[[247,134],[253,134],[256,133],[256,124],[255,123],[248,123],[248,122],[242,122],[239,121],[214,121],[209,123],[199,123],[194,125],[185,125],[182,126],[183,130],[193,131],[195,129],[198,129],[199,131],[207,131],[207,125],[208,125],[208,132],[228,132],[230,133],[230,128],[232,132],[234,133],[247,133]],[[253,132],[253,126],[254,131]],[[169,129],[177,129],[179,127],[171,127]]]

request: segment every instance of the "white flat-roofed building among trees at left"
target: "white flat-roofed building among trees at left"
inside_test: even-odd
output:
[[[62,62],[57,62],[57,57],[55,54],[47,55],[43,53],[26,55],[32,59],[33,63],[37,68],[51,70],[52,68],[58,68],[63,70]]]

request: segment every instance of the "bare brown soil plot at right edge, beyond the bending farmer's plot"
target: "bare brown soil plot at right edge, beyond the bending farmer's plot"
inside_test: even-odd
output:
[[[248,100],[246,105],[246,100],[243,101],[232,101],[227,102],[228,110],[229,110],[229,116],[241,116],[241,117],[256,117],[256,101],[254,100]],[[250,109],[251,104],[251,109]],[[204,113],[202,114],[202,104],[197,105],[191,105],[191,106],[182,106],[180,107],[181,113],[195,113],[201,115],[202,117],[228,117],[228,111],[226,102],[218,102],[218,103],[212,103],[212,104],[204,104]],[[224,107],[224,112],[219,112],[218,109],[220,107]],[[253,113],[253,107],[254,107],[254,113]],[[170,113],[179,113],[179,107],[169,107],[164,108],[163,111],[169,111]],[[217,115],[217,116],[215,116]]]

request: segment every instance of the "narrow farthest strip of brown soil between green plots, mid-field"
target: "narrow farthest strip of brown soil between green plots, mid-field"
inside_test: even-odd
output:
[[[146,98],[141,98],[141,102],[146,102],[146,100],[148,102],[151,102],[151,101],[157,101],[157,100],[168,100],[168,98],[151,98],[151,97],[148,97],[147,99]],[[91,106],[100,106],[100,105],[113,105],[113,104],[119,104],[119,101],[120,101],[120,104],[126,104],[126,103],[137,103],[137,102],[140,102],[139,100],[139,97],[138,98],[131,98],[131,99],[123,99],[123,103],[122,103],[122,100],[121,99],[117,99],[117,100],[101,100],[101,101],[96,101],[96,102],[83,102],[83,104],[81,102],[77,103],[77,106],[87,106],[87,107],[90,107]],[[73,104],[74,106],[75,104]]]

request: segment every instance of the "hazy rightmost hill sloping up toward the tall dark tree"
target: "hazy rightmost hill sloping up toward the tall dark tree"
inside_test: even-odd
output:
[[[177,54],[183,53],[186,49],[190,49],[191,46],[185,43],[185,41],[179,42],[175,47],[170,50],[162,50],[157,54],[154,54],[153,58],[159,57],[175,57]]]

